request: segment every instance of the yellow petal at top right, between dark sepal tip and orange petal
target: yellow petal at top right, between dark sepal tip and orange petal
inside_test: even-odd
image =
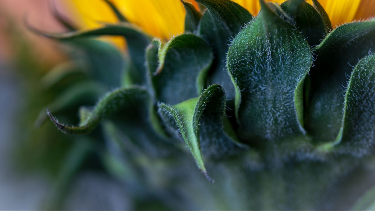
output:
[[[355,15],[361,0],[319,0],[326,9],[332,26],[351,22],[355,20]]]

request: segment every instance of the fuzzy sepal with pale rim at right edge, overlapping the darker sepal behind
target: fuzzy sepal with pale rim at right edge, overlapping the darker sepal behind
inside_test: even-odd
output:
[[[354,68],[344,101],[344,117],[334,152],[363,156],[375,142],[375,54],[361,59]]]

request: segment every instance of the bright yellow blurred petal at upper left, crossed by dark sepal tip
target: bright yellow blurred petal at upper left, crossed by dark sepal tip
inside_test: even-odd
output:
[[[75,20],[84,28],[100,26],[97,21],[115,23],[117,20],[103,0],[70,0]],[[180,0],[112,0],[132,23],[150,35],[168,39],[184,30],[185,9]],[[191,1],[196,7],[196,3]]]

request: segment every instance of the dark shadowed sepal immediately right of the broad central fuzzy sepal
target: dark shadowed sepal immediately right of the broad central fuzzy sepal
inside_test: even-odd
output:
[[[375,20],[337,27],[315,48],[305,128],[315,142],[332,142],[341,128],[345,85],[358,59],[375,49]]]

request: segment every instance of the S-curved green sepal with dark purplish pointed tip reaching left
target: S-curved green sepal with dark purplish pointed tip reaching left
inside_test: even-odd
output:
[[[57,118],[52,116],[49,110],[47,110],[47,115],[63,133],[86,134],[93,131],[102,118],[106,118],[119,110],[126,110],[129,101],[144,100],[144,98],[148,98],[147,91],[139,87],[116,89],[107,93],[107,95],[96,104],[90,115],[85,116],[86,120],[81,121],[78,126],[68,126],[58,122]]]

